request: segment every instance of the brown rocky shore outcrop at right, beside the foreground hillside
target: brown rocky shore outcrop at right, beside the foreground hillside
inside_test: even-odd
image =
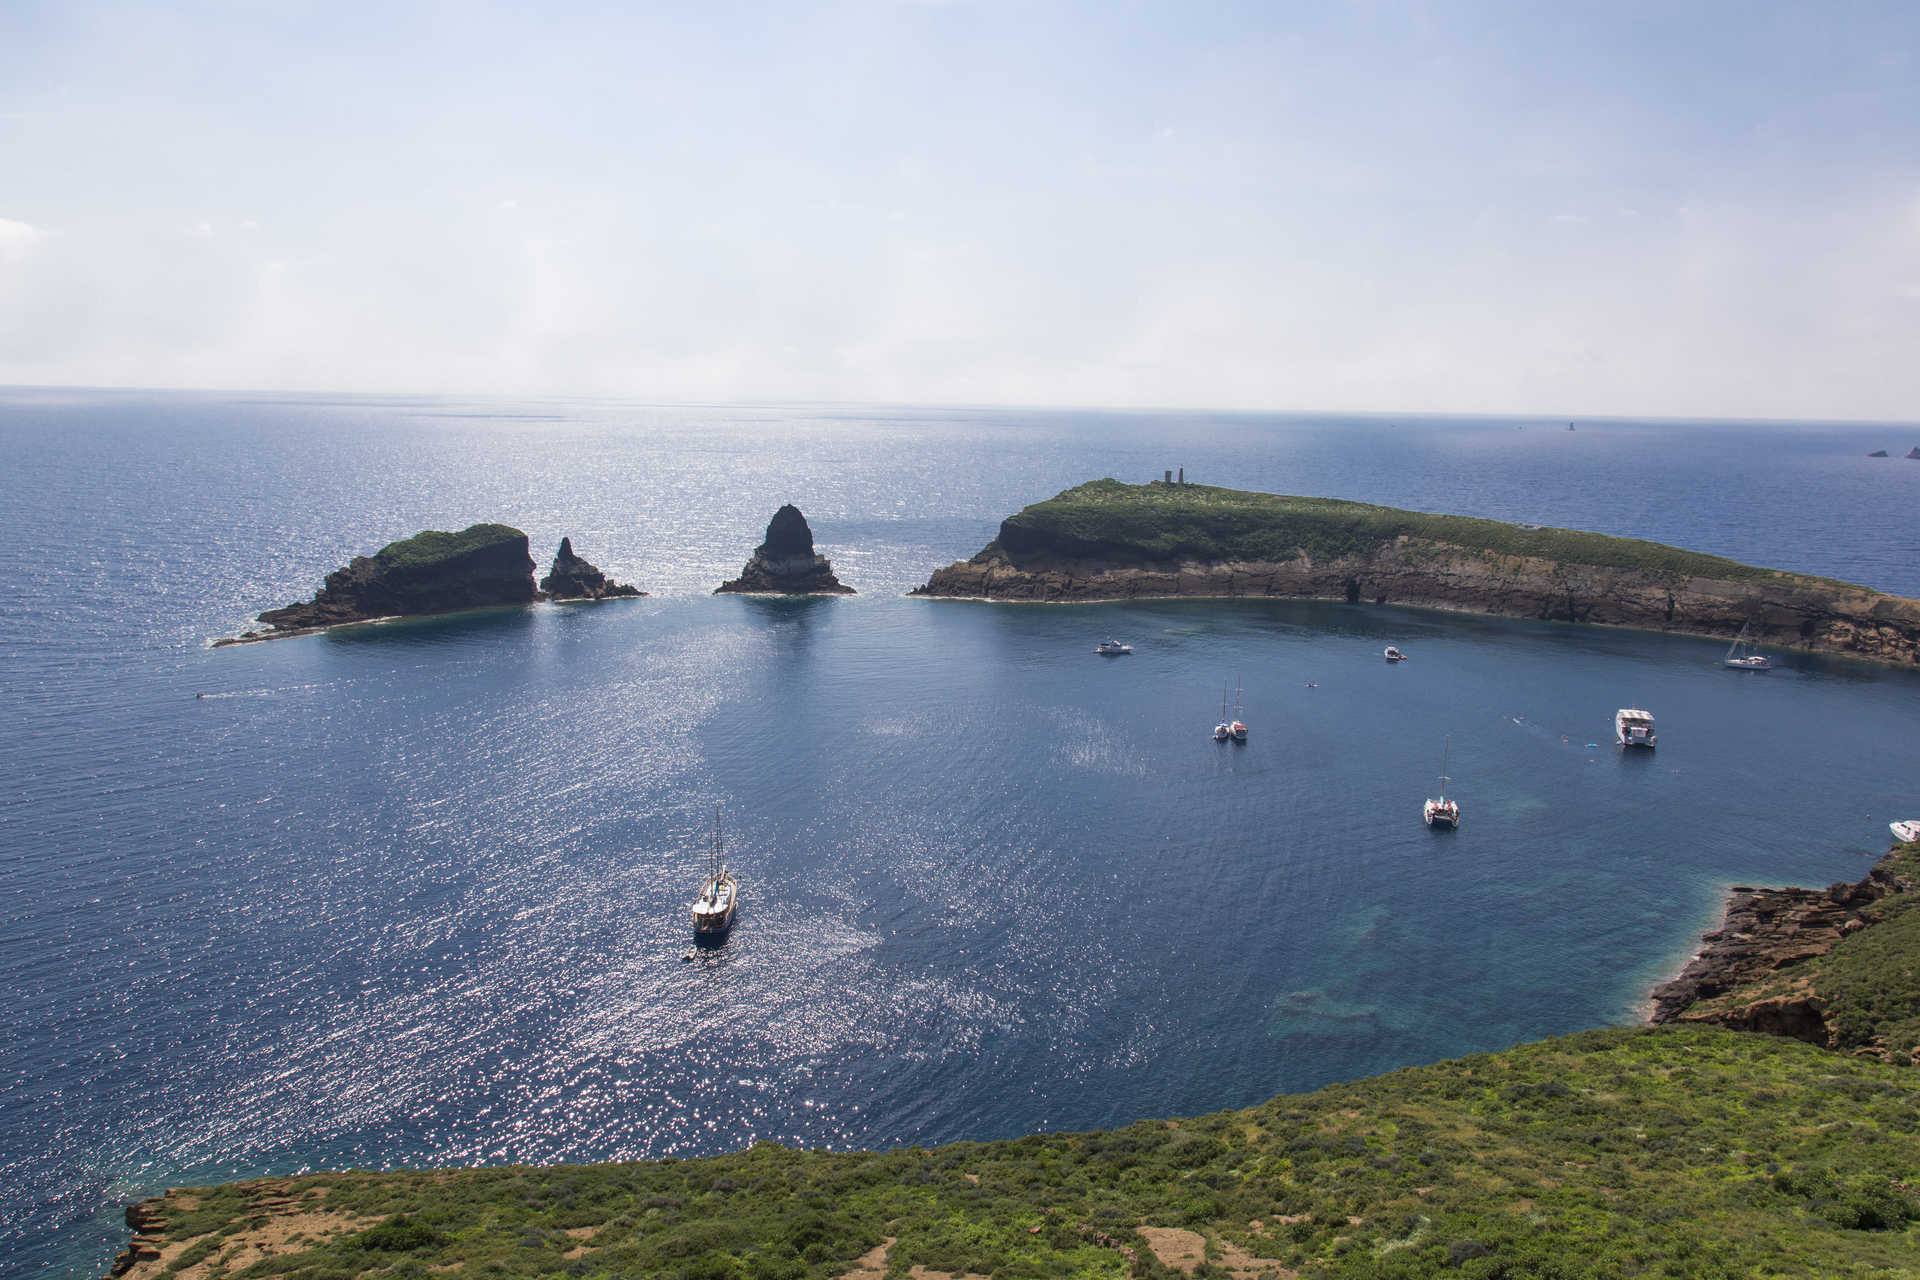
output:
[[[1887,1057],[1834,1025],[1820,963],[1843,938],[1876,927],[1885,900],[1920,889],[1912,846],[1893,846],[1857,883],[1826,889],[1736,885],[1720,927],[1674,979],[1653,988],[1651,1023],[1709,1023]],[[1907,900],[1910,902],[1910,900]],[[1903,902],[1903,906],[1907,904]],[[1912,1061],[1910,1054],[1891,1054]]]

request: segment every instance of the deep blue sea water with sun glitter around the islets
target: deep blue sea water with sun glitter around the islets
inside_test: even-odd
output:
[[[1106,1126],[1634,1021],[1726,885],[1855,879],[1920,816],[1920,676],[900,593],[1029,501],[1185,466],[1920,595],[1912,443],[0,391],[0,1274],[100,1274],[121,1205],[188,1182]],[[708,595],[783,501],[860,595]],[[207,647],[474,520],[655,595]],[[1208,737],[1233,679],[1244,747]],[[1609,745],[1626,704],[1657,752]],[[745,906],[687,963],[716,804]]]

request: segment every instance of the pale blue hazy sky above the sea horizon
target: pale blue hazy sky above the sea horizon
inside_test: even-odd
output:
[[[1910,0],[0,0],[0,384],[1914,420],[1916,75]]]

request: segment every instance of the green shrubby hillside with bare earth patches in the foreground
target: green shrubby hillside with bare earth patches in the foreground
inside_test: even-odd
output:
[[[1912,1069],[1657,1027],[1114,1132],[173,1192],[134,1274],[1912,1276],[1916,1188]]]

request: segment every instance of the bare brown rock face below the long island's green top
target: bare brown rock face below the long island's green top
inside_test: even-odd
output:
[[[1396,537],[1373,551],[1323,560],[1302,551],[1279,562],[1156,564],[1121,547],[1050,543],[1008,522],[987,551],[937,570],[912,595],[991,601],[1300,597],[1728,639],[1741,624],[1751,624],[1751,637],[1763,645],[1920,664],[1920,601],[1791,574],[1734,581],[1565,564],[1419,537]]]

